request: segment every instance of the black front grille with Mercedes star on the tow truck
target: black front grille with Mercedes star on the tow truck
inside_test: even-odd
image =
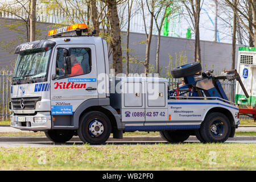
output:
[[[11,102],[13,103],[13,109],[19,110],[22,109],[20,106],[21,98],[11,98]],[[41,97],[24,97],[24,108],[23,109],[35,109],[36,102],[41,100]]]

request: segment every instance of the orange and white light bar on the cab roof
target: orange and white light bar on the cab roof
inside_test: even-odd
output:
[[[68,27],[62,27],[55,30],[50,30],[48,31],[47,36],[56,36],[56,35],[61,35],[61,34],[73,32],[73,31],[86,30],[86,29],[88,29],[88,27],[85,23],[77,23],[77,24],[72,24],[71,26],[68,26]]]

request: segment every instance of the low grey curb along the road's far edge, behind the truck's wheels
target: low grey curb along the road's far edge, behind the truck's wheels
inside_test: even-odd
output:
[[[256,140],[256,137],[234,137],[227,141]],[[186,141],[198,141],[195,136],[189,137]],[[0,142],[51,142],[47,137],[0,137]],[[69,142],[81,142],[79,137],[73,137]],[[115,139],[110,137],[107,142],[166,142],[161,137],[123,137]]]

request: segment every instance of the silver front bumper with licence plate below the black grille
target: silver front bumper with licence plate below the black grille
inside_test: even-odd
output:
[[[18,121],[18,117],[23,117],[22,122]],[[46,118],[45,122],[36,123],[34,121],[35,117]],[[46,131],[50,130],[52,127],[52,119],[50,112],[38,112],[36,115],[11,115],[11,127],[20,130],[30,130],[30,131]]]

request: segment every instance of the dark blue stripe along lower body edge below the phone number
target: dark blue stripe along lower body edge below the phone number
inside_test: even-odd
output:
[[[125,131],[200,129],[200,125],[125,126]]]

